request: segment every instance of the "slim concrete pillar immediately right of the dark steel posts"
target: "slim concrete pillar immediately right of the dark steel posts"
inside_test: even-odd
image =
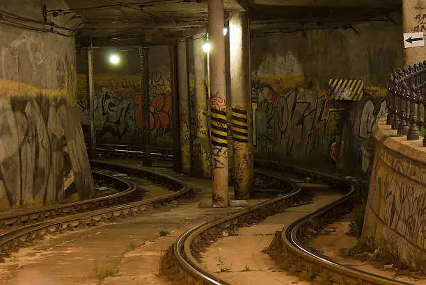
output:
[[[189,113],[189,54],[187,40],[178,43],[180,149],[182,173],[191,175],[191,113]]]

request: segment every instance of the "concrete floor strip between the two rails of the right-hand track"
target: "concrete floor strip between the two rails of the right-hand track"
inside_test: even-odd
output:
[[[240,228],[237,236],[219,239],[207,248],[203,255],[203,264],[212,272],[231,284],[302,284],[299,277],[289,275],[280,270],[279,266],[262,253],[271,244],[276,231],[287,227],[295,220],[312,213],[324,204],[341,197],[338,193],[326,192],[326,189],[315,191],[316,196],[311,204],[295,206],[283,213],[266,218],[253,227]]]

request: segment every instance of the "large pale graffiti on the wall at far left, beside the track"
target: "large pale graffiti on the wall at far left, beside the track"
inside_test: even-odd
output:
[[[73,111],[64,99],[0,99],[2,208],[61,201],[74,182],[90,196],[82,173],[88,158]]]

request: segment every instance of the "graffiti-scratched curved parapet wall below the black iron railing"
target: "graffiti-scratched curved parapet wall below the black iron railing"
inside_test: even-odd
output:
[[[425,167],[382,143],[376,153],[363,235],[391,240],[403,260],[417,263],[426,250]]]

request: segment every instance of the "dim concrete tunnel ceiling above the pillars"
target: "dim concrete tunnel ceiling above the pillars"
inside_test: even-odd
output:
[[[373,3],[374,2],[374,3]],[[67,0],[70,10],[48,15],[73,15],[84,25],[79,46],[161,44],[205,32],[207,0]],[[347,28],[356,22],[389,20],[400,0],[224,0],[226,15],[247,10],[252,35],[306,29]]]

